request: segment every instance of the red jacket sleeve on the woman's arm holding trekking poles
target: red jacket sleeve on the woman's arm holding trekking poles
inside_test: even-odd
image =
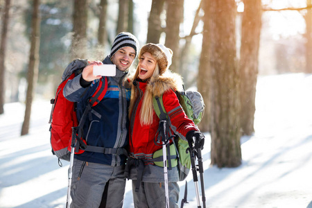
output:
[[[164,108],[168,114],[169,125],[173,132],[181,139],[187,140],[187,132],[191,130],[199,131],[197,126],[187,117],[182,109],[175,92],[170,90],[164,93],[162,100],[164,102]]]

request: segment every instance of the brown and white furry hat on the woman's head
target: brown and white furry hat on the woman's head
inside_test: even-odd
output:
[[[157,60],[159,67],[159,75],[162,75],[168,69],[172,63],[173,51],[167,48],[163,44],[148,43],[141,48],[139,53],[139,59],[143,53],[149,52]]]

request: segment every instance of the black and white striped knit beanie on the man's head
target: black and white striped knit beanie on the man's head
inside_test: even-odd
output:
[[[132,35],[131,33],[119,33],[112,44],[112,49],[110,49],[110,57],[123,47],[132,47],[135,49],[135,58],[137,58],[137,50],[139,49],[139,41],[137,40],[137,37],[135,35]]]

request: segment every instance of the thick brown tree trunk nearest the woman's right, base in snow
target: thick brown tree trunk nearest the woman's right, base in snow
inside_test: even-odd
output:
[[[232,0],[211,0],[211,164],[241,164],[239,70]]]

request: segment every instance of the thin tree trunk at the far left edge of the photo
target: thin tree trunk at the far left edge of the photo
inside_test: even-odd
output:
[[[0,45],[0,114],[3,114],[4,103],[6,99],[6,67],[5,67],[5,60],[6,60],[6,37],[8,34],[8,21],[9,21],[9,14],[10,14],[10,0],[6,0],[6,6],[3,10],[2,16],[2,31],[1,31],[1,45]]]

